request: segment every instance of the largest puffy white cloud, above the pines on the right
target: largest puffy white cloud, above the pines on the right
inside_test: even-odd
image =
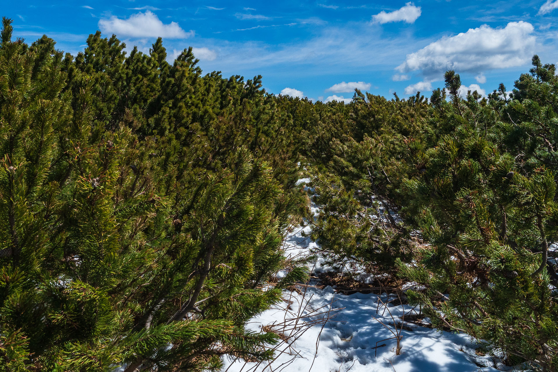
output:
[[[483,25],[451,37],[442,37],[408,54],[397,67],[401,73],[422,70],[426,76],[446,70],[458,72],[521,66],[530,61],[535,48],[533,25],[509,22],[504,28]]]

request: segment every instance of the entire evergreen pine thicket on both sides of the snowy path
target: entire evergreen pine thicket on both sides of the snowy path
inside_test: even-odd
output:
[[[0,35],[0,371],[219,370],[266,360],[245,329],[305,281],[282,241],[321,205],[333,265],[413,282],[435,327],[558,368],[558,77],[350,104],[202,75],[161,38],[76,56]],[[311,220],[311,219],[310,219]],[[278,270],[287,276],[277,279]]]

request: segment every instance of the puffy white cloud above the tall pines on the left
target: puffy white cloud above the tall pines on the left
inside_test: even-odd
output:
[[[194,31],[186,32],[176,22],[164,24],[151,11],[137,13],[129,18],[120,19],[116,16],[99,20],[99,28],[104,33],[129,37],[166,37],[186,38],[194,36]]]

